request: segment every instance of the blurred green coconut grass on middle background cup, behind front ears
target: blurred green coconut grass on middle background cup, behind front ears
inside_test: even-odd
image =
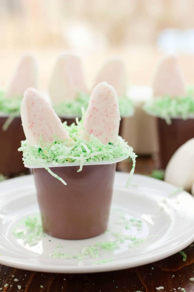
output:
[[[53,105],[53,107],[58,116],[81,117],[81,108],[83,107],[86,110],[88,107],[88,102],[89,95],[81,92],[76,99],[65,100],[58,105]],[[130,117],[134,114],[134,105],[129,97],[120,97],[118,98],[118,102],[121,117]]]

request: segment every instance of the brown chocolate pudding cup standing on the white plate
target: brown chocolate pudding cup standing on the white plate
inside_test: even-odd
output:
[[[66,164],[67,165],[67,164]],[[62,239],[84,239],[108,226],[116,164],[51,167],[67,185],[45,168],[33,168],[44,231]]]

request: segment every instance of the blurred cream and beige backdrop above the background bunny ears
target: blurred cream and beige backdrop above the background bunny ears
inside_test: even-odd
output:
[[[0,83],[24,52],[40,63],[40,89],[56,56],[83,58],[88,86],[104,60],[121,56],[129,83],[150,85],[161,57],[179,55],[187,83],[194,81],[193,0],[0,0]]]

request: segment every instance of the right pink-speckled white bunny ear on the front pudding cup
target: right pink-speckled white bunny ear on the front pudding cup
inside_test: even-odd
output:
[[[90,96],[83,127],[103,144],[114,143],[118,137],[120,112],[118,98],[113,86],[99,83]],[[86,139],[88,135],[86,135]]]

